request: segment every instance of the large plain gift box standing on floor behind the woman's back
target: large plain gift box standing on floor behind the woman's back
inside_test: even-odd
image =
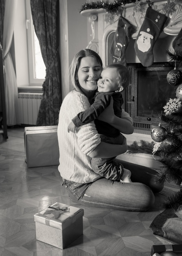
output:
[[[25,162],[27,167],[59,164],[58,126],[24,128]]]

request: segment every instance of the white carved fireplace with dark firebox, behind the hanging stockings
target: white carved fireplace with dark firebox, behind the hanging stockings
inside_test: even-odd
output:
[[[152,8],[163,13],[163,0],[153,0]],[[175,11],[169,15],[164,29],[153,47],[154,62],[150,67],[143,67],[135,54],[134,43],[145,18],[146,9],[149,7],[146,1],[141,1],[142,11],[134,10],[134,3],[123,6],[122,15],[135,27],[136,32],[131,36],[125,52],[127,66],[131,72],[131,85],[123,92],[124,109],[133,118],[136,130],[151,129],[151,126],[159,124],[160,115],[166,100],[175,97],[175,88],[166,81],[166,76],[173,66],[170,66],[166,50],[171,50],[172,42],[178,35],[182,24],[182,3],[175,3]],[[91,22],[92,40],[87,48],[93,49],[100,55],[103,65],[112,63],[110,47],[118,24],[118,15],[113,22],[106,21],[104,9],[88,9],[81,12],[88,16]],[[138,128],[138,129],[137,129]],[[145,131],[144,131],[145,132]]]

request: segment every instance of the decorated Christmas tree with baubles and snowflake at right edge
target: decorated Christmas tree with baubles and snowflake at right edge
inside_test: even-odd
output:
[[[162,168],[156,177],[158,182],[173,181],[179,191],[169,197],[166,208],[182,208],[182,29],[173,41],[173,52],[167,51],[174,69],[167,74],[167,81],[176,92],[163,107],[161,122],[151,131],[155,141],[153,154],[158,153]]]

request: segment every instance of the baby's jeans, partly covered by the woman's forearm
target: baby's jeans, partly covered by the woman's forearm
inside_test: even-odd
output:
[[[122,145],[124,136],[120,133],[119,136],[109,137],[107,135],[100,135],[101,141],[109,144],[120,144]],[[100,176],[107,179],[120,181],[122,180],[122,175],[124,173],[122,164],[117,164],[113,161],[115,157],[111,158],[92,158],[91,166],[95,173],[100,174]]]

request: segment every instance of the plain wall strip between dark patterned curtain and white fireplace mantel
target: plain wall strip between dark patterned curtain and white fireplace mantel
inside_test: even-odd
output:
[[[60,0],[60,59],[62,98],[72,89],[69,66],[75,54],[87,46],[87,17],[80,15],[83,0]]]

